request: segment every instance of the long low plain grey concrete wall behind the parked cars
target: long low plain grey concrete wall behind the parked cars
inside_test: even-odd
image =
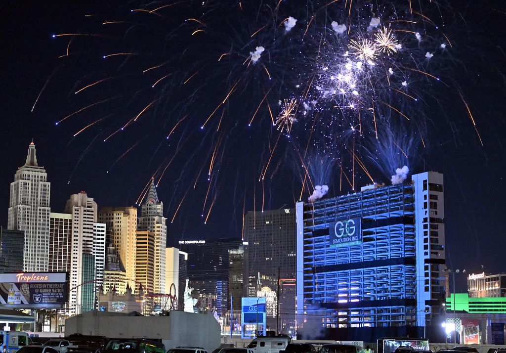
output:
[[[220,324],[210,312],[170,311],[169,316],[149,317],[92,310],[65,320],[65,333],[161,339],[166,349],[198,346],[209,353],[220,346]]]

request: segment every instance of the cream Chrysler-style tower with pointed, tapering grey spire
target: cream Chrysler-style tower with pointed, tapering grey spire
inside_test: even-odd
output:
[[[150,231],[155,237],[154,287],[155,293],[165,290],[165,248],[167,244],[167,219],[163,217],[163,203],[158,200],[153,179],[141,206],[138,231]]]

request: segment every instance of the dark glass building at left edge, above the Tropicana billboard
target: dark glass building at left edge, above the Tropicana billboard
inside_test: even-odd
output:
[[[0,227],[0,273],[23,271],[25,233]]]

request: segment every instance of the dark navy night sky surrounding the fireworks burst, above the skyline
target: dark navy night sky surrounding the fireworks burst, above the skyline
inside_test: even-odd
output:
[[[163,101],[163,95],[160,98],[141,89],[136,91],[144,83],[140,75],[130,75],[128,70],[137,66],[139,70],[144,69],[147,67],[142,65],[144,61],[148,66],[154,65],[152,63],[156,60],[162,63],[159,57],[138,55],[153,49],[150,47],[151,37],[147,35],[142,41],[137,37],[139,44],[132,58],[103,59],[103,55],[125,50],[126,46],[118,38],[134,26],[124,23],[111,27],[101,25],[109,20],[135,23],[130,9],[136,7],[123,6],[123,2],[115,1],[106,2],[105,7],[95,7],[89,3],[9,1],[3,4],[0,14],[2,226],[7,226],[9,185],[14,180],[17,168],[24,164],[32,140],[36,145],[38,164],[46,168],[51,182],[53,212],[63,212],[70,194],[81,190],[94,198],[99,208],[134,206],[151,176],[159,177],[159,166],[166,166],[176,155],[157,187],[158,197],[164,204],[168,218],[168,245],[176,245],[178,240],[183,239],[240,238],[243,211],[252,211],[254,204],[256,210],[262,209],[262,203],[265,209],[294,206],[294,202],[300,198],[302,184],[300,175],[293,172],[292,165],[297,162],[290,162],[293,153],[283,152],[281,147],[276,146],[279,153],[273,154],[275,161],[271,162],[264,183],[258,182],[262,168],[256,161],[268,159],[279,132],[272,126],[261,129],[257,121],[248,129],[251,114],[244,115],[242,121],[237,119],[239,124],[229,124],[225,135],[214,134],[212,129],[201,130],[199,126],[195,126],[195,131],[190,131],[191,126],[186,125],[187,120],[183,119],[178,129],[184,133],[175,130],[172,135],[175,140],[165,142],[160,136],[170,132],[185,113],[191,114],[201,109],[203,123],[209,112],[216,108],[216,104],[210,102],[223,99],[227,92],[214,91],[213,85],[198,75],[192,80],[200,80],[200,83],[191,87],[207,91],[199,91],[199,100],[196,101],[178,103],[178,95],[191,95],[185,91],[184,85],[179,88],[179,93],[176,90],[176,93],[171,92],[176,96],[171,102]],[[233,1],[228,3],[235,4]],[[458,26],[449,26],[446,33],[451,38],[450,42],[453,41],[454,54],[451,60],[458,61],[459,65],[455,65],[457,68],[448,66],[448,71],[452,71],[444,73],[452,77],[451,82],[447,81],[444,89],[434,88],[438,91],[437,97],[432,97],[432,101],[424,101],[428,106],[424,108],[427,129],[425,148],[418,147],[416,158],[410,161],[410,174],[429,170],[444,174],[447,266],[466,268],[470,273],[504,272],[506,234],[502,225],[506,211],[506,6],[500,0],[475,4],[461,1],[453,3],[458,8],[455,8],[453,18],[448,19],[447,26],[450,23]],[[302,4],[311,5],[312,9],[320,7],[317,2]],[[219,14],[211,13],[209,16],[215,16],[216,19]],[[172,28],[177,27],[174,23],[188,17],[184,13],[175,13]],[[163,22],[160,23],[153,23],[153,28],[147,28],[146,33],[167,30],[166,34],[161,35],[166,47],[160,48],[163,52],[160,57],[163,59],[163,55],[166,55],[165,65],[174,71],[172,78],[167,80],[176,80],[179,74],[177,67],[182,59],[171,60],[171,55],[182,53],[185,43],[189,43],[188,51],[191,52],[185,55],[191,55],[190,58],[195,61],[194,64],[185,64],[185,69],[197,72],[199,64],[205,65],[203,60],[197,58],[205,58],[213,50],[205,47],[210,42],[204,39],[197,43],[202,46],[199,53],[195,50],[198,47],[191,45],[189,39],[173,37],[175,32],[164,28]],[[223,26],[226,21],[224,23]],[[217,28],[207,27],[204,30],[210,32]],[[244,26],[244,30],[249,28]],[[96,33],[102,36],[53,37],[63,33]],[[228,40],[234,41],[234,38],[228,37],[220,39],[222,42],[219,44],[224,48]],[[171,47],[171,41],[179,47]],[[66,54],[67,49],[72,54],[59,58]],[[224,52],[227,50],[224,49]],[[231,66],[230,75],[243,67]],[[123,68],[127,68],[126,71],[121,71]],[[272,65],[270,73],[275,76],[282,73],[283,69],[282,65]],[[443,67],[441,71],[445,69]],[[157,75],[163,76],[159,72],[147,76],[150,85],[156,82]],[[181,75],[184,76],[183,73]],[[78,88],[111,76],[120,79],[114,82],[105,80],[102,86],[96,85],[83,91],[80,100],[74,97],[73,92]],[[254,79],[257,79],[255,75],[249,77],[251,82]],[[249,85],[248,88],[251,87]],[[424,94],[431,96],[432,89],[432,86],[425,87]],[[121,92],[128,92],[128,95],[123,96]],[[163,94],[163,91],[159,92]],[[264,94],[265,91],[261,90],[237,93],[244,106],[248,106],[249,98],[254,100],[260,97],[261,100]],[[72,114],[88,104],[110,97],[114,98],[104,103],[106,108],[102,109],[102,105],[98,104],[83,113]],[[136,123],[129,129],[125,128],[103,142],[111,131],[124,126],[143,107],[158,98],[165,105],[160,103],[156,109],[148,109],[148,113],[142,117],[142,124]],[[188,102],[191,104],[184,105]],[[170,104],[172,106],[168,107]],[[234,110],[236,106],[230,104],[224,114],[241,115],[242,111]],[[468,108],[476,122],[476,129]],[[416,115],[416,111],[411,114]],[[55,124],[68,115],[71,116],[65,121]],[[167,123],[169,118],[172,119],[170,124]],[[96,120],[101,121],[73,136]],[[195,148],[174,153],[178,146],[186,148],[188,145]],[[203,182],[206,177],[201,176],[195,188],[193,184],[199,172],[206,175],[210,163],[208,151],[217,145],[226,145],[227,149],[220,150],[222,157],[215,160],[215,168],[220,169],[220,174],[210,182],[209,197],[204,207],[209,183]],[[121,158],[125,152],[128,153]],[[392,172],[377,170],[370,165],[368,168],[375,181],[390,182],[389,175]],[[364,174],[360,171],[355,173],[356,189],[370,182]],[[346,185],[340,190],[340,184],[340,173],[335,172],[329,180],[327,196],[352,192],[352,188]],[[309,194],[305,190],[302,199],[307,200]],[[217,197],[214,198],[214,195]],[[204,224],[209,207],[209,217]],[[175,213],[176,218],[171,223]]]

